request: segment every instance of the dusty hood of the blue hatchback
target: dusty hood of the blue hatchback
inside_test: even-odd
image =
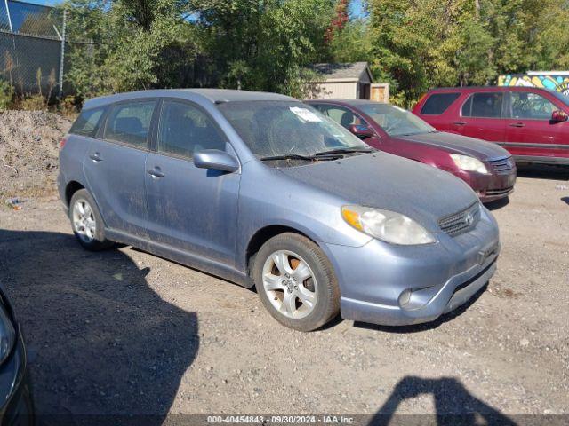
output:
[[[381,152],[280,170],[345,204],[397,211],[431,232],[440,231],[441,217],[477,201],[469,185],[450,173]]]

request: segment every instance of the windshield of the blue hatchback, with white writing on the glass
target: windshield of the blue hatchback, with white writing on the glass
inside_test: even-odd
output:
[[[259,158],[371,149],[340,124],[301,102],[238,101],[218,108]]]

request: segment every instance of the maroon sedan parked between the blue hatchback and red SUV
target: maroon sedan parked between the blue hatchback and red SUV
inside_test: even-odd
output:
[[[364,99],[305,103],[369,146],[453,173],[469,184],[483,202],[505,198],[514,190],[516,164],[500,146],[437,131],[405,109],[389,104]]]

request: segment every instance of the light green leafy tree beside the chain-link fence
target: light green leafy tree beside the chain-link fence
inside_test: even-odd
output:
[[[196,58],[188,4],[71,0],[62,7],[69,17],[66,78],[79,98],[175,86]]]

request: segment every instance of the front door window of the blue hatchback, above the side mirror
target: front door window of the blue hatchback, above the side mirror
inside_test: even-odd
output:
[[[164,100],[158,124],[158,152],[192,158],[204,149],[225,150],[226,138],[197,106]]]

